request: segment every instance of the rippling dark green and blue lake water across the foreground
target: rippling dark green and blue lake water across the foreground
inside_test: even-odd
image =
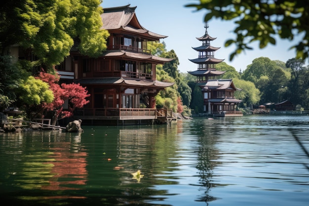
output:
[[[309,116],[0,133],[11,206],[308,206]],[[131,173],[141,171],[141,175]],[[2,205],[2,204],[1,204]]]

